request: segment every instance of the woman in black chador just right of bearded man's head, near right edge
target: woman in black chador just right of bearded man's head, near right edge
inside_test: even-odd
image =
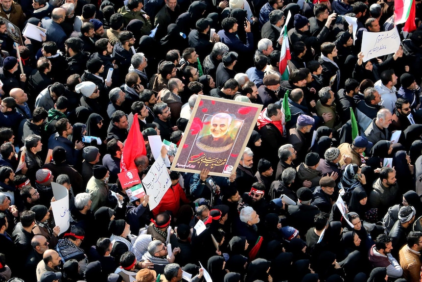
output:
[[[410,156],[406,151],[398,151],[393,156],[393,166],[396,169],[397,184],[401,192],[415,190],[415,168],[410,162]]]

